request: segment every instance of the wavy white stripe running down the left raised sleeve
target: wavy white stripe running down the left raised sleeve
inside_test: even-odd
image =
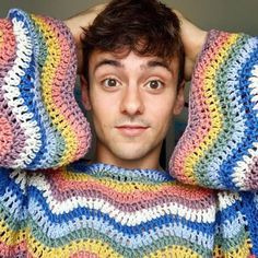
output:
[[[35,157],[35,153],[40,148],[40,134],[39,134],[39,128],[37,127],[35,121],[32,121],[33,114],[27,112],[26,106],[23,105],[24,101],[21,97],[21,92],[17,87],[19,83],[21,82],[21,79],[17,74],[22,75],[24,71],[23,69],[26,69],[28,67],[28,63],[31,61],[31,57],[24,55],[26,52],[27,55],[32,54],[32,42],[31,38],[26,37],[26,30],[23,28],[23,22],[17,22],[16,19],[12,20],[13,22],[13,33],[16,38],[16,59],[14,61],[14,66],[12,69],[8,72],[7,77],[4,78],[5,85],[3,85],[4,90],[4,98],[8,103],[8,105],[12,108],[12,112],[15,115],[15,118],[21,125],[21,128],[24,130],[24,134],[26,138],[25,145],[23,146],[21,153],[19,154],[19,157],[14,161],[14,165],[12,167],[26,167],[26,164],[31,163],[31,161]],[[19,67],[20,66],[20,67]],[[17,99],[13,99],[14,97],[17,97]],[[23,114],[26,112],[25,114]]]

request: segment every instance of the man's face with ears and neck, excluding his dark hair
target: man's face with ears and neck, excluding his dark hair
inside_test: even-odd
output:
[[[183,90],[177,91],[177,59],[167,64],[161,58],[133,51],[91,55],[86,91],[98,162],[159,166],[162,141],[173,114],[178,114],[184,103]]]

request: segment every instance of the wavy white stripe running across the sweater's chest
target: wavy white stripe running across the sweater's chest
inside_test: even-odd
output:
[[[43,176],[38,177],[37,175],[34,175],[31,178],[30,185],[36,187],[43,192],[46,198],[46,202],[49,204],[51,212],[55,214],[67,213],[79,207],[85,207],[107,213],[115,221],[127,225],[139,225],[142,222],[146,222],[165,214],[178,215],[185,218],[186,220],[200,223],[213,222],[215,216],[215,203],[206,209],[202,208],[201,210],[196,210],[177,202],[168,202],[162,206],[157,204],[149,209],[140,209],[136,212],[126,212],[99,198],[73,196],[64,201],[58,201],[54,199],[54,194],[50,190],[50,184]],[[198,201],[192,201],[192,204],[195,203],[198,203]]]

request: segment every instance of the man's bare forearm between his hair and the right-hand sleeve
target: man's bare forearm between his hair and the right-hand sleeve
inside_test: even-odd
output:
[[[181,40],[186,52],[185,80],[189,81],[196,59],[206,42],[207,32],[190,23],[179,11],[173,10],[173,12],[176,13],[181,23]]]

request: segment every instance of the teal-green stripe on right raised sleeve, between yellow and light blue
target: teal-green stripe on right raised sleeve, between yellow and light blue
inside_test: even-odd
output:
[[[235,132],[236,125],[233,118],[236,117],[236,110],[231,105],[232,99],[231,95],[228,94],[228,87],[225,86],[225,83],[228,81],[228,78],[231,79],[231,67],[239,59],[239,51],[242,50],[243,45],[247,43],[247,40],[248,37],[246,36],[241,36],[236,40],[236,43],[228,49],[227,58],[223,59],[219,70],[212,79],[212,82],[214,84],[214,86],[212,86],[212,94],[215,95],[219,99],[219,102],[216,103],[219,114],[223,114],[222,128],[213,144],[203,153],[204,155],[202,156],[202,159],[194,167],[195,175],[199,183],[198,185],[202,185],[206,187],[214,187],[215,185],[216,187],[222,188],[224,186],[223,180],[221,179],[221,175],[218,174],[219,172],[212,169],[212,162],[213,164],[215,164],[215,166],[218,166],[215,159],[222,161],[223,155],[226,155],[226,157],[228,157],[227,136],[230,134],[230,139],[232,139],[232,136]],[[234,91],[236,92],[238,90],[234,89]],[[226,107],[224,105],[226,105]]]

